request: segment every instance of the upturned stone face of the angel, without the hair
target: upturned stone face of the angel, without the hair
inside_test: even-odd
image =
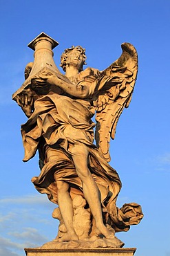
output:
[[[73,49],[67,57],[67,64],[69,66],[75,66],[78,71],[83,68],[83,55],[81,50]]]

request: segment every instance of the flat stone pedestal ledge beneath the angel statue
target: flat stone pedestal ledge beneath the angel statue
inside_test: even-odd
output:
[[[27,256],[133,256],[136,248],[45,249],[25,248]]]

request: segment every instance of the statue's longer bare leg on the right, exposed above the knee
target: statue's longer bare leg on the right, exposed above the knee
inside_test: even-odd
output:
[[[114,233],[107,230],[103,223],[99,190],[87,167],[87,158],[89,154],[87,147],[83,144],[74,145],[70,151],[72,152],[76,172],[82,181],[85,199],[87,200],[89,208],[96,221],[96,228],[98,228],[99,232],[106,238],[113,238]]]

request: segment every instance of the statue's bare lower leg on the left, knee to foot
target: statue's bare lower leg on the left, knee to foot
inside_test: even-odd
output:
[[[73,207],[69,193],[69,185],[63,181],[56,181],[58,190],[58,203],[61,216],[67,228],[67,233],[61,237],[60,241],[78,240],[78,236],[73,227]]]

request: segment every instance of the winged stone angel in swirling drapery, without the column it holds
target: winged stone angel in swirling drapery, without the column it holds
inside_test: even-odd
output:
[[[60,65],[65,75],[50,71],[34,75],[27,93],[17,97],[28,116],[21,125],[23,161],[38,150],[41,173],[32,183],[59,205],[52,214],[60,221],[53,243],[122,247],[115,232],[129,230],[143,217],[137,203],[117,208],[121,181],[108,163],[110,138],[114,139],[118,118],[129,106],[138,71],[134,46],[124,43],[122,48],[122,55],[104,71],[89,67],[83,71],[85,49],[67,48]],[[25,78],[31,69],[30,63]]]

